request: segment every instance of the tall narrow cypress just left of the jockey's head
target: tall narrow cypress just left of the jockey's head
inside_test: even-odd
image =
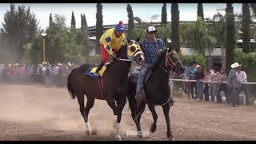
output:
[[[96,12],[96,50],[95,54],[100,54],[100,46],[99,46],[99,39],[103,34],[103,15],[102,15],[102,4],[97,3],[97,12]]]

